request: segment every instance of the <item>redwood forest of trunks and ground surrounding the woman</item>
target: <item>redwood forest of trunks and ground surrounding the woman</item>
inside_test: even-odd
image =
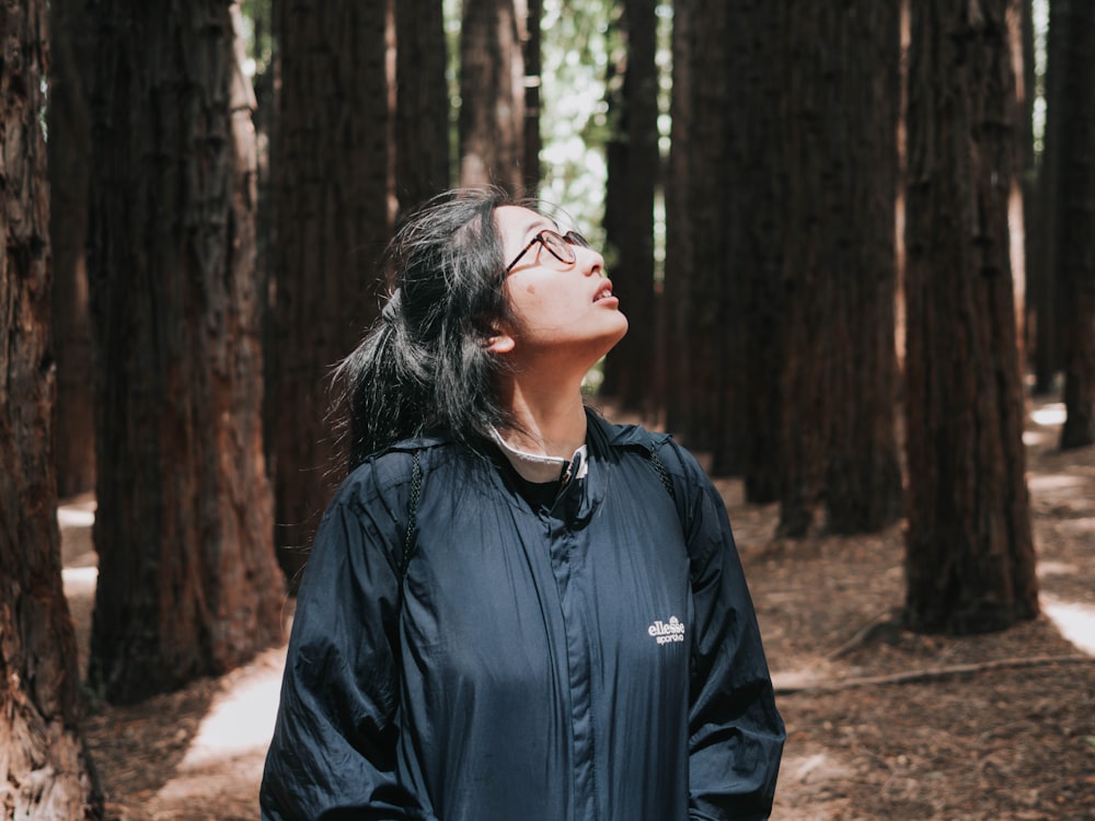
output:
[[[146,818],[119,756],[177,764],[188,698],[276,668],[332,366],[402,216],[488,184],[604,248],[590,402],[703,458],[773,669],[812,668],[781,817],[1095,818],[1093,666],[1039,589],[1095,553],[1091,3],[18,0],[0,38],[4,818]],[[887,736],[861,687],[925,679]],[[221,798],[155,817],[254,814]]]

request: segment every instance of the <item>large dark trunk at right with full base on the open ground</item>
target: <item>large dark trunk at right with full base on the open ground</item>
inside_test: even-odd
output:
[[[1008,258],[1018,0],[914,0],[909,66],[906,617],[1038,612]]]

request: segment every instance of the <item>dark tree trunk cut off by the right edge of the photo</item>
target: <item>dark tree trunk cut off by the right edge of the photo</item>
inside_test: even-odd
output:
[[[1095,7],[1069,0],[1056,193],[1057,280],[1064,289],[1062,448],[1095,442]]]

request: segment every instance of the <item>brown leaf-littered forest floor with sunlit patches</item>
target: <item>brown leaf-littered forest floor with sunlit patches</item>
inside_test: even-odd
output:
[[[774,819],[1095,819],[1095,448],[1057,450],[1062,416],[1035,403],[1025,437],[1042,614],[998,634],[900,626],[900,525],[782,540],[775,506],[719,482],[787,724]],[[93,510],[73,499],[59,517],[81,663]],[[256,818],[284,658],[94,705],[85,733],[108,818]]]

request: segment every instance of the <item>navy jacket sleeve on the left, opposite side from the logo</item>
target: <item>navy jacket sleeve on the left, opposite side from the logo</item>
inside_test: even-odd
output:
[[[263,773],[263,821],[434,818],[396,777],[394,556],[406,512],[382,498],[378,484],[373,465],[359,469],[316,532]]]

